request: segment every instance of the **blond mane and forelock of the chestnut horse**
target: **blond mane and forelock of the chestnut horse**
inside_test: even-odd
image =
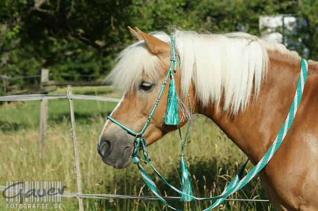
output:
[[[151,34],[170,42],[164,32]],[[250,97],[258,96],[268,69],[268,50],[299,57],[283,44],[244,32],[198,34],[175,30],[173,36],[181,61],[181,98],[186,97],[192,82],[203,105],[219,104],[223,97],[223,110],[232,114],[244,111]],[[143,41],[125,48],[116,61],[107,80],[124,93],[134,90],[142,77],[156,81],[161,74],[159,58],[148,51]]]

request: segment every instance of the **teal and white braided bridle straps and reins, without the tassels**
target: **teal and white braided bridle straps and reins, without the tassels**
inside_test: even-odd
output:
[[[173,46],[172,49],[173,49],[173,55],[175,54],[175,46],[174,46],[174,42],[173,42],[173,37],[170,36],[170,39],[171,39],[171,45]],[[175,54],[176,55],[176,54]],[[177,60],[178,60],[178,57],[176,57]],[[147,121],[145,122],[141,132],[139,133],[136,133],[134,132],[133,130],[131,130],[129,127],[126,127],[125,125],[121,124],[120,122],[118,122],[117,120],[115,120],[114,118],[108,116],[107,119],[111,120],[112,122],[114,122],[115,124],[117,124],[118,126],[122,127],[123,129],[125,129],[127,132],[131,133],[132,135],[135,135],[136,138],[135,138],[135,141],[134,141],[134,151],[133,151],[133,162],[134,164],[137,165],[140,173],[141,173],[141,176],[143,177],[145,183],[147,184],[148,188],[150,190],[152,190],[152,192],[164,203],[166,204],[169,208],[173,209],[173,210],[176,210],[176,211],[182,211],[182,210],[179,210],[179,209],[176,209],[176,208],[173,208],[172,206],[170,206],[165,200],[164,198],[162,198],[162,196],[159,194],[159,191],[157,189],[157,186],[155,185],[155,183],[153,182],[152,178],[150,177],[150,175],[146,172],[145,169],[142,168],[142,166],[139,164],[139,159],[140,157],[138,156],[138,152],[139,152],[139,148],[140,148],[140,144],[141,144],[141,147],[142,147],[142,151],[143,151],[143,156],[145,158],[145,161],[143,161],[144,163],[149,163],[149,165],[151,166],[151,168],[155,171],[155,173],[159,176],[159,178],[166,184],[168,185],[170,188],[172,188],[173,190],[179,192],[182,196],[184,195],[185,197],[188,197],[189,199],[197,199],[197,200],[203,200],[203,201],[206,201],[206,200],[216,200],[209,208],[205,209],[204,211],[209,211],[213,208],[215,208],[217,205],[219,205],[221,202],[223,202],[227,196],[233,194],[234,192],[240,190],[241,188],[243,188],[248,182],[250,182],[250,180],[261,170],[263,169],[267,163],[270,161],[270,159],[273,157],[273,154],[276,152],[276,150],[278,149],[278,147],[281,145],[283,139],[285,138],[286,136],[286,133],[288,132],[291,124],[293,123],[294,121],[294,118],[295,118],[295,114],[296,114],[296,111],[297,111],[297,108],[298,108],[298,105],[300,103],[300,100],[301,100],[301,97],[302,97],[302,93],[303,93],[303,88],[304,88],[304,84],[306,82],[306,78],[307,78],[307,70],[308,70],[308,61],[307,60],[304,60],[304,59],[301,59],[301,71],[300,71],[300,76],[299,76],[299,80],[298,80],[298,83],[297,83],[297,88],[296,88],[296,93],[295,93],[295,97],[293,99],[293,103],[291,105],[291,108],[289,110],[289,113],[287,115],[287,118],[283,124],[283,126],[281,127],[278,135],[276,136],[275,138],[275,141],[273,142],[271,148],[266,152],[266,154],[264,155],[264,157],[257,163],[257,165],[246,175],[244,176],[242,179],[240,179],[241,175],[243,173],[243,168],[245,168],[246,164],[242,167],[242,169],[240,170],[240,173],[239,175],[236,175],[234,177],[234,179],[227,185],[227,187],[225,188],[225,190],[222,192],[221,195],[219,196],[214,196],[214,197],[208,197],[208,198],[198,198],[198,197],[195,197],[193,195],[190,195],[186,192],[183,192],[181,190],[178,190],[177,188],[175,188],[174,186],[170,185],[164,178],[163,176],[159,173],[159,171],[157,169],[155,169],[155,167],[151,164],[151,160],[150,158],[148,157],[148,154],[147,154],[147,148],[146,148],[146,140],[143,138],[143,132],[145,131],[145,129],[147,128],[154,112],[155,112],[155,109],[160,101],[160,98],[161,98],[161,95],[162,95],[162,92],[163,92],[163,89],[167,83],[167,79],[169,77],[169,75],[171,74],[171,70],[172,70],[172,66],[174,66],[174,69],[176,68],[175,65],[176,65],[176,61],[173,60],[175,59],[174,57],[172,57],[172,60],[171,60],[171,63],[170,63],[170,67],[169,67],[169,70],[166,74],[166,77],[164,79],[164,82],[162,84],[162,87],[160,89],[160,92],[159,92],[159,95],[158,95],[158,98],[156,100],[156,103],[155,105],[153,106],[150,114],[149,114],[149,117],[147,119]],[[178,63],[179,60],[178,60]],[[190,102],[190,97],[188,95],[188,100],[189,100],[189,105],[190,105],[190,110],[191,110],[191,114],[192,114],[192,109],[191,109],[191,102]],[[186,137],[187,137],[187,133],[189,131],[189,127],[190,127],[190,124],[191,124],[191,117],[190,117],[190,120],[189,120],[189,125],[188,125],[188,128],[187,128],[187,131],[186,131],[186,135],[185,135],[185,138],[184,138],[184,141],[182,143],[182,157],[183,157],[183,151],[184,151],[184,146],[185,146],[185,141],[186,141]],[[181,134],[181,132],[180,132]],[[182,138],[181,138],[182,139]],[[141,160],[141,159],[140,159]],[[184,158],[183,158],[184,160]],[[184,161],[185,163],[185,161]]]

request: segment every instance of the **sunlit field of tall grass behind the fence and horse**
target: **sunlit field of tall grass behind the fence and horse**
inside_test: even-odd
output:
[[[110,87],[72,88],[74,94],[119,98]],[[59,89],[54,93],[65,93]],[[96,145],[106,116],[116,103],[74,100],[76,130],[79,146],[83,193],[152,195],[145,187],[136,166],[118,170],[106,166],[100,159]],[[0,185],[6,180],[62,180],[68,191],[76,191],[73,148],[70,137],[69,108],[66,99],[49,100],[46,157],[39,159],[39,101],[11,102],[0,105]],[[184,132],[185,128],[182,128]],[[191,149],[191,154],[187,153]],[[177,152],[177,153],[176,153]],[[180,187],[180,139],[171,132],[148,148],[153,164],[176,187]],[[220,194],[246,161],[246,156],[209,119],[195,115],[185,149],[192,184],[196,196]],[[145,166],[158,184],[162,195],[178,196],[168,189]],[[252,165],[247,166],[250,170]],[[259,178],[229,198],[267,199]],[[212,202],[170,201],[174,207],[197,211]],[[94,211],[161,211],[169,210],[160,201],[84,199],[85,210]],[[63,210],[78,209],[76,198],[64,198]],[[0,197],[0,211],[6,210]],[[260,211],[274,210],[268,202],[224,202],[215,210]]]

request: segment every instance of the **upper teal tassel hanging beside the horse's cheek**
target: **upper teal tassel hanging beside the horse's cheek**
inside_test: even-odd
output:
[[[178,97],[176,90],[176,83],[171,71],[171,82],[168,95],[168,104],[166,115],[164,117],[164,124],[166,125],[179,125],[179,113],[178,113]]]

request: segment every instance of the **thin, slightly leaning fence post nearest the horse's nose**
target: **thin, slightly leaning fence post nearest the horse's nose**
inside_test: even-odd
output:
[[[79,211],[84,211],[83,198],[81,198],[79,196],[80,194],[82,194],[81,171],[80,171],[80,166],[79,166],[79,158],[78,158],[78,150],[77,150],[77,139],[76,139],[73,100],[71,99],[72,90],[71,90],[70,85],[67,86],[66,92],[68,95],[69,113],[70,113],[70,122],[71,122],[70,134],[71,134],[72,139],[73,139],[73,149],[74,149],[74,159],[75,159],[74,166],[75,166],[76,183],[77,183],[78,207],[79,207]]]

